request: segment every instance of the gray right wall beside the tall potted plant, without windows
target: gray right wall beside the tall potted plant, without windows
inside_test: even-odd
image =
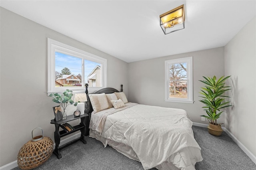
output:
[[[224,54],[234,105],[227,109],[226,128],[256,156],[256,17],[225,46]]]

